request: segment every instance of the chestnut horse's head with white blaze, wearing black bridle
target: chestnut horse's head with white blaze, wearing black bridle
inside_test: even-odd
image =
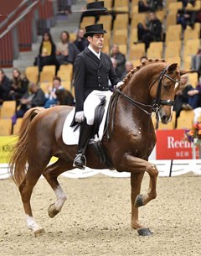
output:
[[[188,72],[190,70],[179,70],[177,63],[167,65],[150,86],[150,94],[154,99],[153,110],[164,124],[172,118],[174,97],[179,89],[180,76]]]

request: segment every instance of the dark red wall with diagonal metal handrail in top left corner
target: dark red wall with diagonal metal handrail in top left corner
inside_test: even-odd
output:
[[[31,50],[38,34],[54,25],[54,2],[9,0],[0,13],[0,67],[13,67],[19,51]]]

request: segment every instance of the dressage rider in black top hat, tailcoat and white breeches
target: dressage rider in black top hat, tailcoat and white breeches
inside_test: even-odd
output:
[[[75,59],[75,122],[81,123],[78,153],[74,167],[85,169],[85,149],[94,130],[95,107],[106,96],[111,86],[121,86],[122,81],[108,55],[101,52],[104,43],[103,24],[85,27],[89,45]]]

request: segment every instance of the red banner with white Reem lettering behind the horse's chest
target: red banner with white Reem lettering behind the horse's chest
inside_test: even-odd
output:
[[[156,159],[193,159],[193,144],[184,140],[184,132],[157,130]]]

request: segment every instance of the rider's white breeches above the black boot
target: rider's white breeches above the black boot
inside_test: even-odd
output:
[[[88,97],[86,97],[84,102],[84,115],[86,118],[86,123],[88,125],[94,124],[95,119],[95,107],[101,102],[101,99],[105,96],[111,96],[111,91],[91,91]]]

